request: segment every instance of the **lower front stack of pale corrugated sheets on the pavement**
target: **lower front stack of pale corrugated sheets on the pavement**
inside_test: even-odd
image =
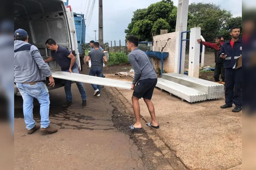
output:
[[[192,89],[184,85],[180,85],[173,81],[165,80],[163,78],[158,78],[156,86],[190,103],[207,99],[206,93],[200,92],[196,89]]]

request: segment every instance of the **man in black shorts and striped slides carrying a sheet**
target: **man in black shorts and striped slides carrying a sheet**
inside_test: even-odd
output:
[[[130,35],[127,37],[127,48],[131,51],[129,54],[129,61],[135,72],[131,86],[132,89],[134,89],[132,104],[136,123],[129,128],[137,130],[142,129],[139,105],[139,99],[141,98],[144,99],[152,119],[152,121],[146,125],[152,128],[159,128],[156,121],[154,105],[151,101],[154,88],[157,84],[157,74],[149,57],[145,52],[138,49],[138,43],[138,38],[136,36]]]

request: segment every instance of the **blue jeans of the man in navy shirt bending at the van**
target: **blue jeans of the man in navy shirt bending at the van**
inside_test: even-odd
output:
[[[66,72],[69,72],[69,71],[66,71]],[[79,74],[78,67],[72,69],[72,72]],[[70,102],[72,102],[71,83],[72,83],[71,80],[64,80],[64,85],[65,85],[64,89],[65,89],[65,93],[66,93],[66,100],[68,100]],[[85,92],[85,89],[83,87],[83,83],[76,81],[76,85],[77,85],[78,90],[81,94],[82,100],[86,100],[86,92]]]

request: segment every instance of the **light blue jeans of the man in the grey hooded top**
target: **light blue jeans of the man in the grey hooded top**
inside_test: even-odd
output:
[[[49,93],[44,82],[38,82],[34,85],[16,83],[21,96],[23,98],[23,114],[28,130],[32,129],[36,125],[36,121],[33,119],[33,99],[36,98],[40,103],[40,115],[41,115],[41,128],[47,128],[50,124],[49,121]]]

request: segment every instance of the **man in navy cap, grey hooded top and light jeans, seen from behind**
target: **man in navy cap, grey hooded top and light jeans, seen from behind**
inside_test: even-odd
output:
[[[28,43],[29,35],[23,29],[14,32],[14,82],[23,98],[23,114],[28,129],[28,134],[34,133],[40,128],[33,119],[33,99],[40,103],[41,128],[43,133],[57,132],[49,124],[49,93],[45,85],[46,77],[48,85],[54,87],[52,73],[44,62],[36,46]]]

